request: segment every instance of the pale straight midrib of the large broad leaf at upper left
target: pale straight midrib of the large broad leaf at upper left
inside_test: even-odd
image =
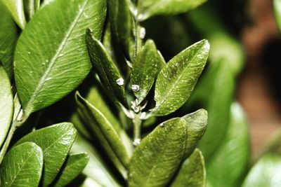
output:
[[[27,116],[29,116],[30,113],[32,112],[32,104],[33,104],[34,100],[36,99],[37,95],[39,94],[39,91],[41,90],[42,86],[44,85],[44,83],[46,81],[46,78],[48,77],[48,74],[50,74],[53,65],[55,64],[55,62],[58,59],[60,53],[62,52],[63,48],[65,47],[65,45],[67,43],[67,39],[69,39],[70,35],[72,34],[72,32],[74,30],[75,25],[77,25],[77,22],[79,21],[79,18],[81,17],[82,13],[84,12],[84,9],[85,9],[88,1],[89,0],[85,0],[84,5],[81,8],[79,8],[79,13],[74,18],[74,21],[70,25],[70,28],[67,30],[67,34],[65,34],[65,38],[60,43],[60,46],[58,47],[58,50],[56,50],[55,55],[53,56],[50,63],[48,64],[48,68],[46,69],[45,73],[41,77],[41,79],[40,79],[40,81],[37,85],[37,88],[34,89],[33,95],[30,97],[29,102],[27,102],[27,105],[26,105],[26,108],[25,108],[25,112],[26,112]]]

